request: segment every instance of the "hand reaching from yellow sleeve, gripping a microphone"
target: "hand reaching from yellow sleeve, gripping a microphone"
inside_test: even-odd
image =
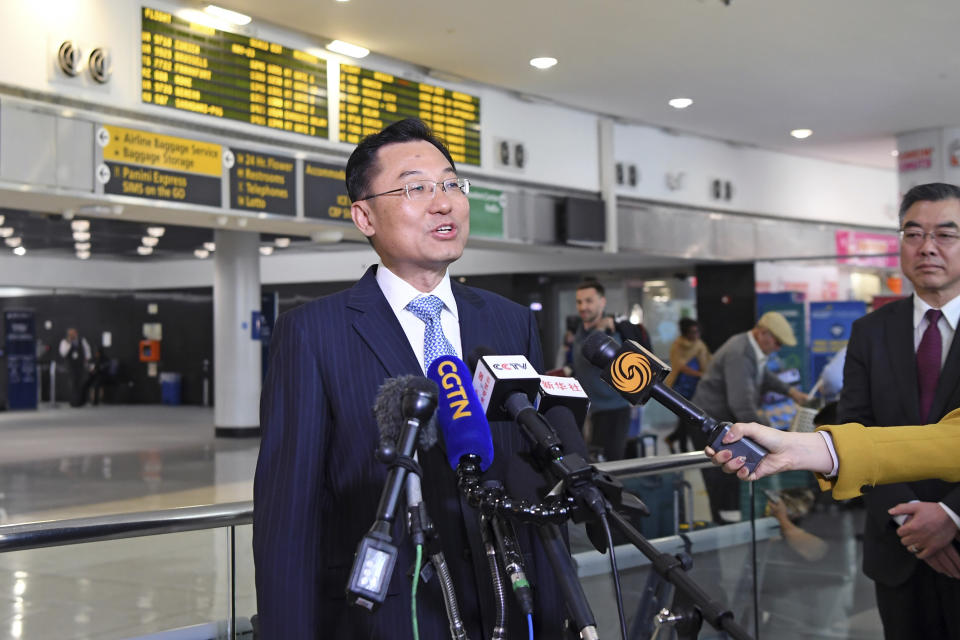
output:
[[[817,433],[792,433],[771,429],[756,422],[737,422],[723,437],[723,443],[730,444],[744,436],[769,451],[752,474],[743,468],[746,462],[743,457],[731,460],[733,454],[730,451],[716,452],[707,447],[704,452],[714,464],[722,465],[726,473],[736,473],[741,480],[758,480],[791,469],[829,473],[833,468],[830,450],[827,449],[823,437]]]

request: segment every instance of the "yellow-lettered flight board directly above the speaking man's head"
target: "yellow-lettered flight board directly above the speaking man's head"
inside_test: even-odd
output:
[[[480,98],[340,65],[340,142],[356,144],[411,117],[423,120],[443,139],[454,162],[480,166]]]

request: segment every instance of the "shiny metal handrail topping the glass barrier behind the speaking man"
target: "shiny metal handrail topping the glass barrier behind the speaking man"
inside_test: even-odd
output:
[[[613,476],[625,478],[698,469],[710,465],[711,462],[702,452],[694,451],[669,456],[601,462],[595,466]],[[10,524],[0,526],[0,553],[164,533],[218,529],[252,522],[253,502],[248,500],[198,507]]]

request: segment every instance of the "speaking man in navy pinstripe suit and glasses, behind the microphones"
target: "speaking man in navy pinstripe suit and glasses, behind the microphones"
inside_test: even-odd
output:
[[[408,304],[424,295],[442,300],[443,335],[461,357],[484,346],[524,354],[542,370],[529,309],[450,280],[447,267],[462,254],[469,232],[468,185],[422,122],[405,120],[366,138],[346,175],[354,224],[381,262],[350,289],[281,316],[272,336],[253,526],[258,614],[268,640],[412,637],[407,572],[413,549],[401,523],[393,531],[400,555],[386,602],[371,614],[345,601],[354,552],[373,522],[386,477],[374,458],[377,389],[386,378],[425,368],[425,321]],[[542,486],[517,460],[528,447],[516,425],[490,428],[496,455],[487,477],[504,480],[508,490]],[[490,637],[494,602],[478,513],[459,495],[440,447],[421,451],[420,462],[424,501],[467,633]],[[563,599],[546,556],[529,527],[519,527],[518,537],[535,593],[537,635],[565,637]],[[436,579],[421,583],[417,600],[420,637],[448,637]],[[515,606],[508,628],[512,637],[526,635]]]

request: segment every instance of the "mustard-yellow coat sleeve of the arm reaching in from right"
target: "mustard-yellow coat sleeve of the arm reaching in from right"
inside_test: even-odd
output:
[[[817,474],[836,500],[854,498],[861,487],[940,479],[960,482],[960,409],[937,424],[864,427],[850,423],[817,429],[830,433],[840,462],[837,477]]]

